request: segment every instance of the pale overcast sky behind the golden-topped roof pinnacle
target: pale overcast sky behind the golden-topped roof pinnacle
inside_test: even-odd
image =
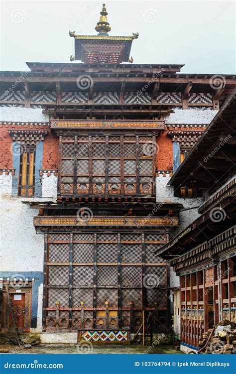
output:
[[[185,64],[183,73],[235,74],[235,1],[105,1],[110,35],[132,35],[134,63]],[[1,1],[0,70],[25,61],[70,62],[69,30],[96,35],[95,1]]]

